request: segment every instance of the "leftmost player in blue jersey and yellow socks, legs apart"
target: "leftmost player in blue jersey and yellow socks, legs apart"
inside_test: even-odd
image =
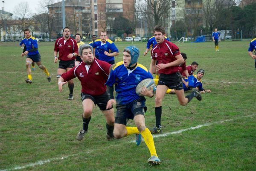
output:
[[[26,47],[26,49],[23,50],[23,53],[21,53],[21,56],[26,56],[26,71],[28,74],[28,79],[25,80],[26,83],[32,83],[32,75],[30,69],[30,65],[32,64],[32,62],[35,62],[38,67],[44,71],[44,73],[47,75],[48,81],[50,82],[51,75],[48,72],[47,68],[41,62],[41,55],[38,52],[37,40],[31,36],[29,29],[24,30],[24,35],[25,38],[20,41],[20,46],[24,44],[24,46]]]

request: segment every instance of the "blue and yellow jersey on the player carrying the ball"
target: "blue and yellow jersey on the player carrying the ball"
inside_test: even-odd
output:
[[[142,64],[137,63],[134,70],[129,70],[121,61],[112,68],[105,85],[113,86],[115,84],[116,103],[128,104],[140,98],[135,90],[140,81],[146,78],[153,77]]]

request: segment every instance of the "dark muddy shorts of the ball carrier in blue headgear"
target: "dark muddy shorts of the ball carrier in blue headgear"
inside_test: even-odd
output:
[[[140,97],[139,99],[122,105],[116,105],[116,124],[126,125],[129,119],[134,119],[136,115],[145,115],[145,97]]]

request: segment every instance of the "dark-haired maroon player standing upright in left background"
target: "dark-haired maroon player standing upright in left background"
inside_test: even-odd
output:
[[[75,59],[78,55],[78,46],[76,40],[70,37],[70,28],[65,27],[62,34],[63,37],[58,38],[54,46],[54,63],[57,63],[58,59],[60,60],[57,79],[61,77],[61,74],[75,67]],[[57,58],[58,53],[59,56]],[[73,100],[74,82],[72,79],[68,81],[68,88],[70,90],[68,100]]]

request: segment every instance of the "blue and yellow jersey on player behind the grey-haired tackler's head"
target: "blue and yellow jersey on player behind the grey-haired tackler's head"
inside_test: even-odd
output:
[[[107,39],[105,43],[102,43],[100,39],[96,39],[91,46],[93,46],[93,48],[96,48],[96,51],[98,51],[99,53],[99,60],[101,61],[109,62],[115,60],[113,56],[105,55],[105,51],[107,51],[108,53],[119,52],[113,41],[109,39]]]

